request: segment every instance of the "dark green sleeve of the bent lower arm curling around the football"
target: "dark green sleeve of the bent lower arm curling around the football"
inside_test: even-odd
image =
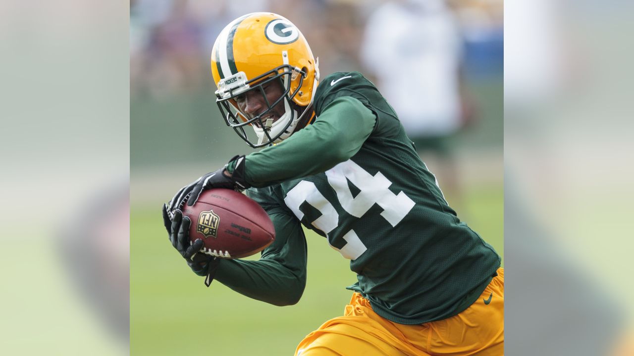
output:
[[[215,279],[238,293],[273,305],[299,301],[306,286],[306,237],[299,220],[256,189],[248,191],[269,213],[275,241],[252,260],[221,260]]]

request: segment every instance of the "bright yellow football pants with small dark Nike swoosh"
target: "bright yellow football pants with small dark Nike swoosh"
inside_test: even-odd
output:
[[[486,303],[489,302],[489,303]],[[299,343],[295,355],[402,356],[504,354],[504,270],[469,308],[440,321],[403,325],[378,316],[354,293],[344,316],[325,322]]]

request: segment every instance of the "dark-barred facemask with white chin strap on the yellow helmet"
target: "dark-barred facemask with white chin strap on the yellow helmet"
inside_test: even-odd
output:
[[[232,127],[249,146],[252,148],[268,146],[287,139],[295,131],[297,123],[309,111],[293,101],[300,92],[305,78],[306,72],[288,64],[273,68],[251,80],[247,80],[245,73],[238,72],[218,83],[216,102],[226,124]],[[278,82],[282,89],[281,96],[272,103],[265,91],[265,87],[271,82]],[[291,83],[295,87],[293,92],[291,92]],[[261,113],[249,118],[252,115],[240,110],[236,98],[251,94],[252,91],[257,91],[253,95],[262,96],[265,108]],[[278,105],[283,105],[283,115],[273,122],[270,115],[275,112]],[[245,130],[247,125],[252,127],[252,133],[250,130]]]

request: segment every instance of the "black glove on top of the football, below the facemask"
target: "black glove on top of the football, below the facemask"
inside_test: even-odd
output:
[[[229,163],[236,161],[235,168],[233,168],[233,174],[230,176],[225,175],[226,167]],[[225,189],[247,189],[250,185],[244,180],[245,159],[244,156],[235,156],[231,158],[223,168],[211,172],[198,178],[196,181],[181,188],[181,190],[174,195],[174,198],[168,203],[167,211],[173,212],[176,209],[182,208],[185,201],[188,206],[194,205],[198,200],[198,196],[205,189],[211,188],[225,188]]]

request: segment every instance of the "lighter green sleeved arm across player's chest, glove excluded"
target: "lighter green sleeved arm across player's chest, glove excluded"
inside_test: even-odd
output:
[[[312,125],[279,144],[245,158],[244,179],[254,187],[325,172],[355,155],[370,136],[376,117],[358,99],[333,100]],[[228,170],[232,170],[230,164]]]

